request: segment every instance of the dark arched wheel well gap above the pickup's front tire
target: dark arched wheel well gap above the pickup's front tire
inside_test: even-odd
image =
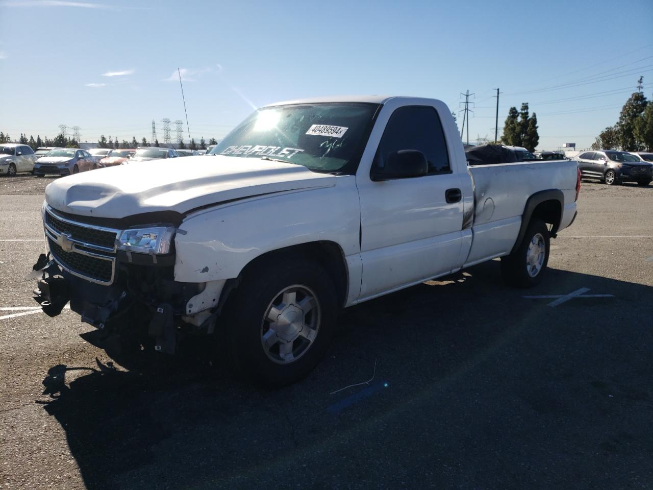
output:
[[[333,284],[336,286],[336,297],[338,298],[338,303],[341,306],[344,306],[345,301],[347,301],[347,289],[349,285],[345,255],[342,252],[340,245],[336,242],[329,241],[302,243],[263,253],[249,262],[240,274],[238,274],[238,278],[227,281],[223,291],[227,292],[228,296],[233,289],[238,287],[242,277],[248,270],[257,267],[266,261],[278,260],[279,258],[288,255],[292,255],[293,257],[303,255],[307,260],[317,261],[317,263],[328,272]],[[220,299],[221,303],[226,301],[227,297]]]

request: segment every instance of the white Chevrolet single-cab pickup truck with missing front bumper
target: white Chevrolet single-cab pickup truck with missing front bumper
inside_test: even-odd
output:
[[[210,154],[52,182],[28,276],[51,316],[70,301],[139,351],[210,335],[279,386],[319,361],[340,308],[495,257],[537,284],[579,189],[573,161],[468,167],[437,100],[278,103]]]

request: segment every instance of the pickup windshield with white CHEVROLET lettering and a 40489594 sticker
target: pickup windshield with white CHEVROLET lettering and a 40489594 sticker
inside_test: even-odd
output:
[[[366,103],[323,103],[259,109],[210,154],[269,157],[313,171],[354,172],[376,108]]]

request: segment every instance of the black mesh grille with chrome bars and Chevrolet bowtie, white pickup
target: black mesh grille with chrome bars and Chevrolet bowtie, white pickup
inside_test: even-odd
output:
[[[50,206],[46,206],[44,227],[52,258],[63,269],[97,284],[114,282],[119,230],[68,220]]]

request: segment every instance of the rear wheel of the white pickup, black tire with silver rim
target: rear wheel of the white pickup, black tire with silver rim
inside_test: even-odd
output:
[[[539,284],[549,263],[549,241],[547,223],[532,220],[517,250],[501,257],[501,273],[505,283],[514,287]]]

